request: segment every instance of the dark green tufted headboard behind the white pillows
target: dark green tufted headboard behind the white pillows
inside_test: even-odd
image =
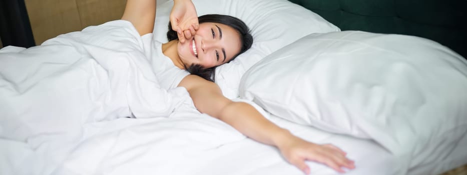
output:
[[[290,0],[341,30],[415,35],[467,58],[467,0]]]

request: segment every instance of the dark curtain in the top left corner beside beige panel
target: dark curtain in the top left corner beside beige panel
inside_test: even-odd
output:
[[[3,46],[35,46],[24,0],[0,0],[0,38]]]

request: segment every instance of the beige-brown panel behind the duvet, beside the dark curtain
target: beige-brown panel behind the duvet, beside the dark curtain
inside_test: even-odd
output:
[[[127,0],[25,0],[36,44],[122,17]]]

